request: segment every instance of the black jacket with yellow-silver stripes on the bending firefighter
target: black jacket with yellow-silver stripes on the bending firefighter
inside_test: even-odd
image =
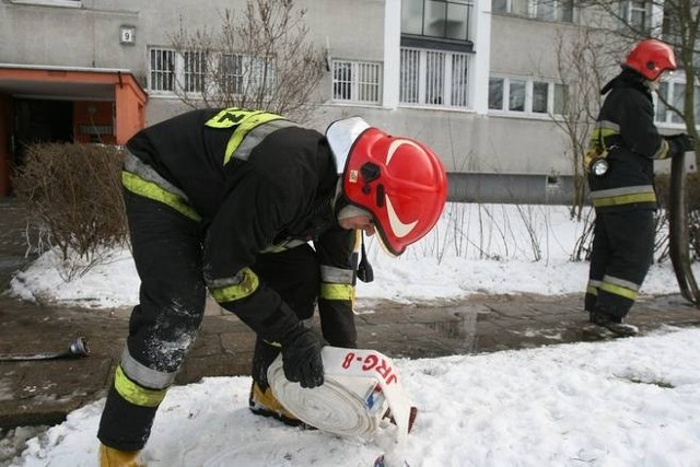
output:
[[[278,340],[295,320],[250,270],[260,253],[315,241],[319,306],[351,313],[355,234],[336,221],[338,175],[323,135],[265,112],[202,109],[142,130],[127,149],[126,189],[201,223],[212,296],[260,337]]]

